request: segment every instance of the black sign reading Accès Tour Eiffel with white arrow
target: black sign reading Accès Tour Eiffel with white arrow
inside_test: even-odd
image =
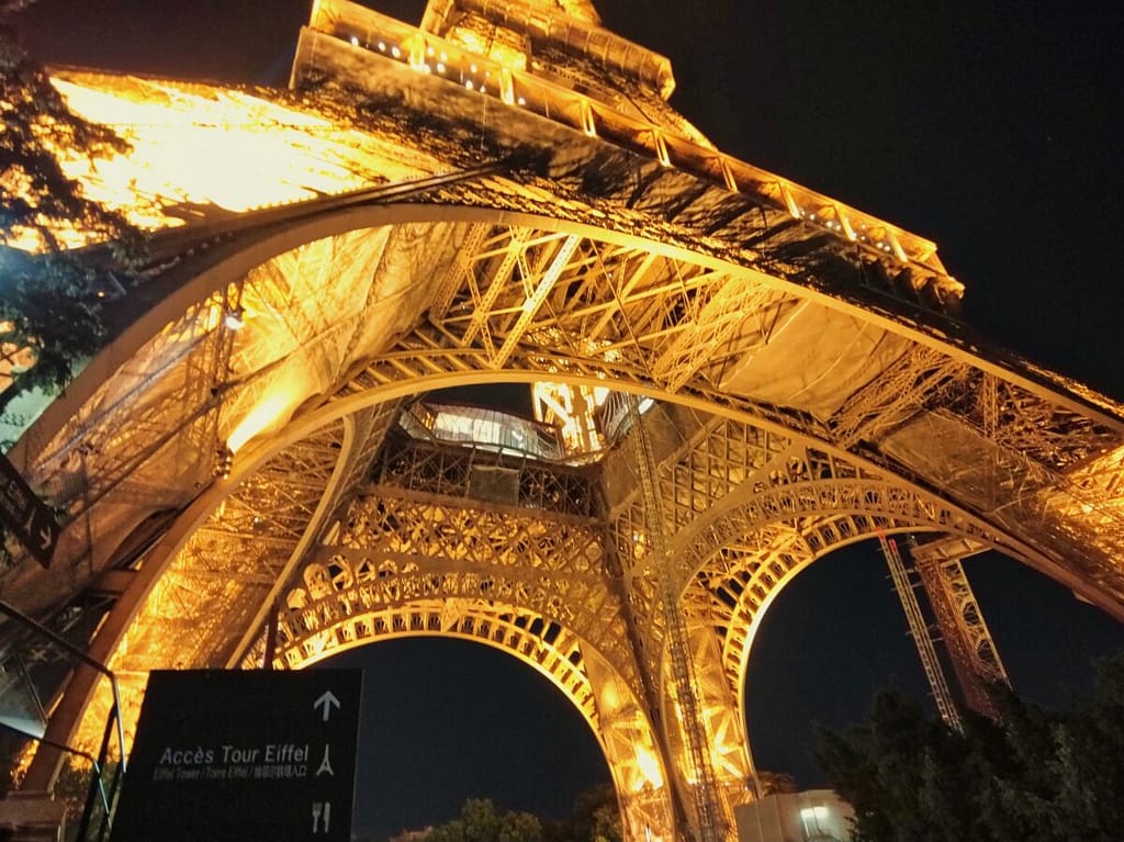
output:
[[[153,671],[112,842],[348,842],[361,670]]]

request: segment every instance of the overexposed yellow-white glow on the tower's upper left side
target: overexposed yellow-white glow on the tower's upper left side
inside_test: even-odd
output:
[[[85,196],[139,228],[181,226],[208,215],[287,205],[417,178],[436,164],[337,120],[225,88],[132,76],[63,73],[53,78],[67,106],[110,126],[132,150],[90,159],[56,150]],[[82,230],[60,230],[76,247]],[[37,250],[20,232],[9,245]]]

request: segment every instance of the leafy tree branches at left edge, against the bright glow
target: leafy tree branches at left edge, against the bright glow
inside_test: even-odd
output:
[[[64,248],[58,232],[114,244],[118,260],[142,251],[125,217],[84,197],[60,165],[63,151],[108,156],[128,144],[72,114],[22,49],[12,16],[33,1],[0,0],[0,355],[6,368],[15,363],[11,383],[0,387],[0,411],[28,388],[65,386],[74,361],[93,353],[103,336],[96,272],[85,255]]]

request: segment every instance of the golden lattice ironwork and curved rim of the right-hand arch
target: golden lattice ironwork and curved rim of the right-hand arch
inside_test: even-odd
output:
[[[996,538],[937,498],[753,425],[711,419],[689,441],[661,465],[665,500],[683,500],[688,491],[697,500],[682,507],[674,537],[686,553],[683,606],[707,617],[722,640],[725,680],[738,698],[761,610],[814,559],[879,531],[953,531],[973,546]],[[731,477],[740,481],[727,482]],[[618,543],[638,528],[636,517],[620,511]],[[636,605],[650,612],[651,596],[643,594],[638,589]]]

